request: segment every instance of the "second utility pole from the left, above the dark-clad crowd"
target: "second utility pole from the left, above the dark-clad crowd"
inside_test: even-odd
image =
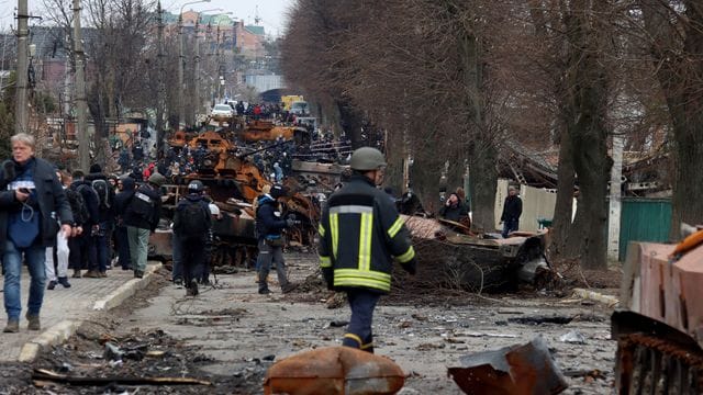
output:
[[[74,0],[74,56],[76,58],[76,134],[78,135],[78,165],[83,171],[90,166],[90,139],[88,138],[86,98],[86,53],[80,32],[80,0]]]

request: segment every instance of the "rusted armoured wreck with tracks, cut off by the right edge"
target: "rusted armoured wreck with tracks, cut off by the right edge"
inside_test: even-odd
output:
[[[612,317],[618,394],[703,393],[703,229],[691,232],[629,245]]]

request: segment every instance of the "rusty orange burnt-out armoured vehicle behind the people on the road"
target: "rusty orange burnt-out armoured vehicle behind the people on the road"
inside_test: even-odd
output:
[[[197,171],[177,176],[172,184],[165,187],[168,194],[168,200],[164,203],[165,217],[172,217],[179,199],[188,193],[190,181],[202,181],[208,195],[221,213],[213,225],[216,242],[212,264],[247,266],[254,259],[256,246],[253,202],[266,185],[271,184],[250,160],[257,150],[237,147],[214,131],[205,131],[190,138],[186,133],[178,132],[169,145],[177,151],[186,148],[200,150],[200,157]],[[310,194],[304,194],[304,185],[300,185],[294,178],[290,178],[284,185],[288,190],[282,200],[284,215],[295,214],[300,222],[289,230],[289,241],[294,245],[311,245],[320,217],[320,206]],[[170,229],[161,228],[150,237],[152,258],[171,259],[171,235]]]

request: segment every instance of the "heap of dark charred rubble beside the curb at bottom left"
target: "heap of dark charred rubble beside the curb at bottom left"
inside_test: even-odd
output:
[[[264,374],[260,369],[255,377],[213,376],[200,370],[211,362],[160,329],[133,330],[118,338],[83,327],[69,342],[42,354],[34,363],[32,383],[60,394],[210,394],[225,388],[248,393]]]

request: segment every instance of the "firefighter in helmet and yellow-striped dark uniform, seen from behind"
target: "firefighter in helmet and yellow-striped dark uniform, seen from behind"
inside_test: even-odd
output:
[[[323,211],[317,251],[327,287],[346,292],[352,308],[342,345],[373,352],[373,309],[391,290],[393,259],[415,274],[415,250],[393,203],[376,188],[383,180],[383,154],[359,148],[350,167],[354,173]]]

